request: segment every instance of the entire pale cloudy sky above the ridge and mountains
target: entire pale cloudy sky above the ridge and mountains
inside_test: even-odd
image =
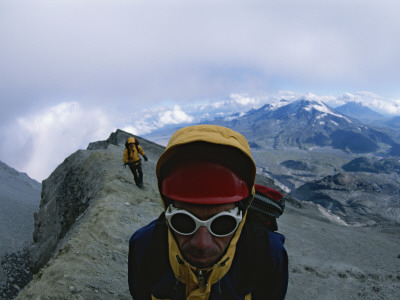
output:
[[[0,160],[40,181],[116,128],[193,121],[188,103],[400,115],[399,79],[400,1],[0,0]]]

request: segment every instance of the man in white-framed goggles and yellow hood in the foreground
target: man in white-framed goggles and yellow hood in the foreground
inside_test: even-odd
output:
[[[229,128],[196,125],[172,135],[156,167],[164,212],[129,242],[133,299],[284,299],[284,236],[249,210],[255,174],[249,144]],[[282,196],[261,192],[265,201]],[[271,205],[279,216],[283,208]]]

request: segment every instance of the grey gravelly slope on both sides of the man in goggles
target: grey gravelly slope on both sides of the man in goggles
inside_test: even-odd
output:
[[[162,148],[141,145],[149,157],[143,189],[122,166],[122,145],[85,150],[86,172],[103,174],[103,184],[17,299],[130,299],[129,238],[162,211],[155,178]],[[286,299],[400,299],[399,227],[349,227],[305,203],[287,203],[278,224],[289,253]]]

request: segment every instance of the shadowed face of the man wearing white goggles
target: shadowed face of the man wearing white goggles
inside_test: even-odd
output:
[[[185,209],[200,220],[207,220],[222,211],[235,208],[233,203],[218,205],[189,204],[174,201],[176,208]],[[234,233],[224,236],[213,236],[206,227],[200,227],[192,235],[181,235],[172,230],[179,249],[185,259],[194,267],[211,267],[224,254]]]

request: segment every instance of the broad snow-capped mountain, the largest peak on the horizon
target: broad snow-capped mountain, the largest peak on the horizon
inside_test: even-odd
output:
[[[210,123],[230,127],[251,142],[276,149],[332,146],[353,153],[367,153],[379,151],[381,144],[389,149],[396,145],[383,129],[374,129],[313,100],[266,104],[237,118],[221,118]]]

